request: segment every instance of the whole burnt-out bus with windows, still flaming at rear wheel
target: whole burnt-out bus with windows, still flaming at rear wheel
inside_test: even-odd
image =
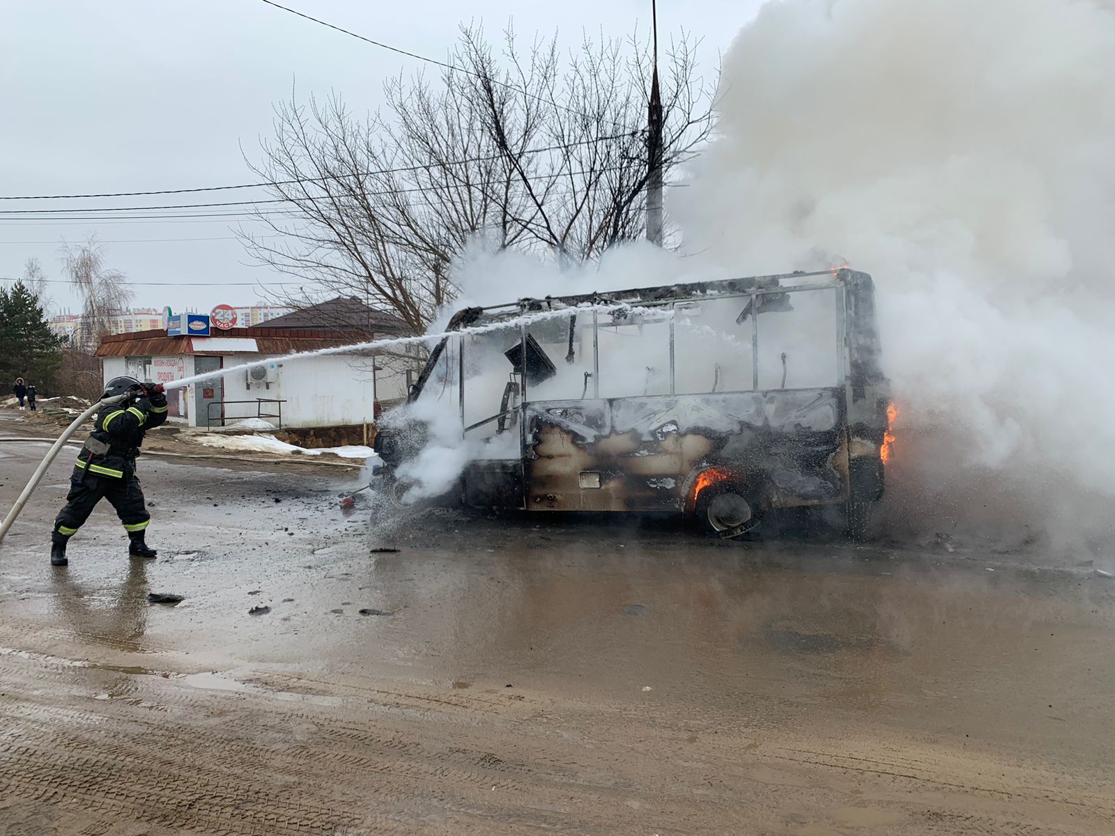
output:
[[[862,534],[882,496],[890,387],[866,273],[523,299],[459,311],[449,330],[465,328],[410,401],[459,416],[466,505],[673,512],[723,536],[827,506]],[[407,446],[381,434],[388,475]]]

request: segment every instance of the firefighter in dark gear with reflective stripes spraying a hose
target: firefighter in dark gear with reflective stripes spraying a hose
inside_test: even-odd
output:
[[[66,543],[89,518],[101,497],[116,508],[128,533],[128,553],[133,557],[154,557],[156,552],[144,541],[151,521],[139,479],[136,456],[144,434],[166,420],[166,395],[159,385],[140,383],[135,378],[113,378],[105,385],[101,399],[126,396],[101,407],[94,419],[93,432],[74,464],[66,505],[55,519],[50,537],[50,564],[65,566]]]

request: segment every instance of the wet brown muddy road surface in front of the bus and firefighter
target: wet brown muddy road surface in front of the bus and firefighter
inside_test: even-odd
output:
[[[45,450],[0,443],[0,508]],[[70,460],[0,546],[0,834],[1115,833],[1095,564],[149,458],[158,560],[106,506],[54,570]]]

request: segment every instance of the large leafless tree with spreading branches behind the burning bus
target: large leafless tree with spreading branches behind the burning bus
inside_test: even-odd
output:
[[[647,54],[637,37],[524,52],[510,28],[497,52],[465,27],[453,68],[389,80],[380,113],[358,118],[339,96],[280,105],[249,161],[280,203],[258,212],[270,234],[241,237],[256,263],[307,282],[277,301],[356,298],[415,332],[456,294],[450,264],[472,241],[595,259],[644,231]],[[685,36],[666,64],[668,174],[708,136],[715,79],[697,78]]]

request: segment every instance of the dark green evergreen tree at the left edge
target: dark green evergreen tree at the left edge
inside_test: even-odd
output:
[[[4,395],[17,377],[35,383],[40,397],[51,393],[62,359],[61,343],[50,330],[38,298],[22,281],[8,290],[0,288],[0,382]]]

